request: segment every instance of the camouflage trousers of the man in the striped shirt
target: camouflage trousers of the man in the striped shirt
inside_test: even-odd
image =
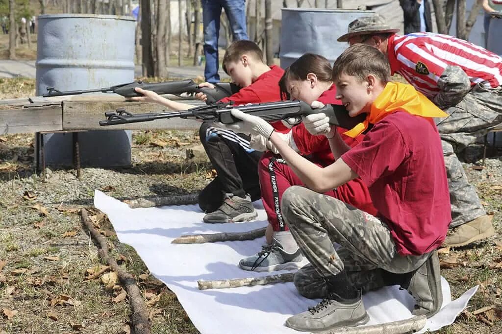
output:
[[[486,214],[455,152],[459,152],[502,122],[502,87],[476,85],[455,106],[444,109],[448,117],[437,118],[448,176],[452,223],[458,227]]]

